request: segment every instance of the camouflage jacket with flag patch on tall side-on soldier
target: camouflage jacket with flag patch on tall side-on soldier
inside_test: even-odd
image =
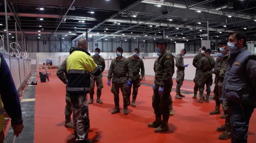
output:
[[[174,66],[172,53],[168,50],[161,53],[154,64],[155,85],[160,85],[161,87],[169,87],[172,85]]]

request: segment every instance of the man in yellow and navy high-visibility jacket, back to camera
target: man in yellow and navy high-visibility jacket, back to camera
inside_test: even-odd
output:
[[[76,143],[92,143],[91,140],[87,139],[90,120],[86,94],[90,91],[90,76],[101,74],[101,68],[94,63],[87,50],[87,40],[79,39],[77,48],[74,48],[73,53],[69,55],[66,61],[68,73],[66,92],[70,95],[73,107]]]

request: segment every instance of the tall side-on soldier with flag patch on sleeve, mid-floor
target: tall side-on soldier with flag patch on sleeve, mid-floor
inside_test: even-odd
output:
[[[158,39],[155,50],[160,53],[158,61],[154,65],[155,85],[153,86],[152,106],[155,113],[155,121],[148,127],[155,128],[155,132],[169,130],[168,120],[170,111],[170,92],[172,88],[172,75],[174,73],[174,58],[167,50],[167,41]]]

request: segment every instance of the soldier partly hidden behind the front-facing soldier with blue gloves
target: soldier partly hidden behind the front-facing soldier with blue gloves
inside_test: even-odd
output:
[[[145,75],[144,63],[142,59],[139,58],[139,54],[140,54],[140,50],[138,48],[135,48],[133,50],[133,56],[128,58],[133,71],[133,80],[132,80],[132,85],[133,85],[132,106],[133,107],[136,107],[135,100],[138,94],[138,88],[140,87],[140,81],[143,80]],[[130,90],[128,93],[128,105],[130,105],[130,94],[131,94],[132,85],[130,85]]]

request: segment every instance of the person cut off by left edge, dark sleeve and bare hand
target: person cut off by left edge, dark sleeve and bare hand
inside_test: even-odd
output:
[[[2,103],[5,106],[5,111],[12,119],[11,126],[14,134],[19,136],[24,128],[21,117],[20,99],[9,67],[4,57],[0,54],[0,143],[3,143],[5,139],[3,133],[4,115]]]

